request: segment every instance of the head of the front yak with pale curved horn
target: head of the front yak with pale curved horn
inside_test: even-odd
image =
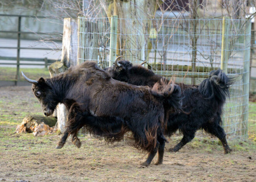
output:
[[[33,84],[32,92],[35,94],[36,98],[42,105],[43,113],[45,114],[45,116],[52,115],[54,109],[59,103],[59,97],[55,94],[53,88],[42,77],[38,81],[36,81],[26,77],[23,72],[21,73],[25,80]]]

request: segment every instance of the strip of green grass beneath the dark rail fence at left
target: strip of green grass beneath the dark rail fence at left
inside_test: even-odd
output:
[[[40,77],[49,78],[50,73],[47,68],[20,68],[21,81],[25,81],[21,75],[21,71],[25,73],[28,78],[37,80]],[[0,68],[0,80],[1,81],[15,81],[16,80],[16,68]]]

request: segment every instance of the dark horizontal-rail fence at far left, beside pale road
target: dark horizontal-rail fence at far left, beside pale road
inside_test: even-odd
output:
[[[0,14],[0,65],[16,65],[15,80],[19,81],[21,65],[47,68],[54,63],[60,48],[51,40],[61,40],[62,33],[54,30],[62,27],[60,22],[52,17]],[[55,55],[47,58],[48,53]]]

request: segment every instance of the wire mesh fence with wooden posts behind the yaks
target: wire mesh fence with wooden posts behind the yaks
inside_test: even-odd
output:
[[[229,139],[247,138],[251,23],[223,19],[78,19],[78,62],[111,66],[116,56],[176,82],[199,84],[211,70],[235,78],[223,109]],[[187,72],[188,71],[188,72]],[[187,72],[187,73],[186,73]],[[205,137],[202,131],[197,137]]]

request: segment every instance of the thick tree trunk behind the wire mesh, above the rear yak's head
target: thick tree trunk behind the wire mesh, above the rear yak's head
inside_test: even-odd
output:
[[[106,1],[100,0],[107,16],[118,15],[117,54],[124,55],[126,60],[140,63],[148,58],[152,49],[149,40],[150,18],[154,18],[155,10],[163,1],[133,0]],[[120,34],[120,38],[119,38]],[[123,50],[120,53],[119,50]]]

